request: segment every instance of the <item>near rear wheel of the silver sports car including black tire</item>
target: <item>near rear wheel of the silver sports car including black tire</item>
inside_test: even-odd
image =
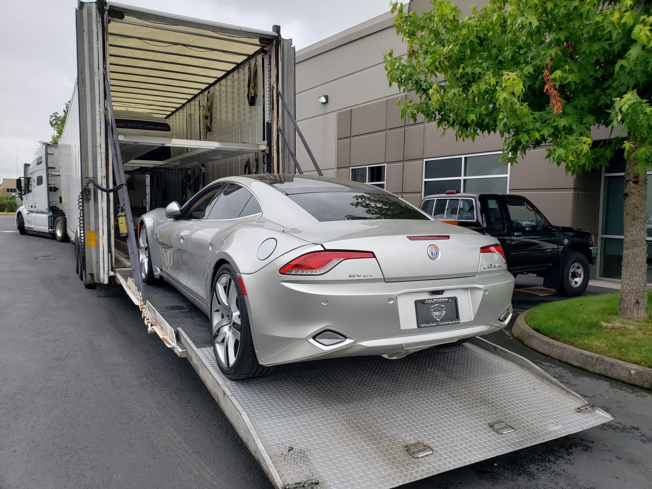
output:
[[[220,294],[220,290],[222,293]],[[228,299],[231,293],[237,294],[235,309],[239,316],[240,324],[234,321],[235,314],[230,314],[234,308],[229,306]],[[226,301],[222,299],[226,297]],[[213,331],[213,352],[222,373],[233,380],[254,379],[263,377],[273,372],[273,366],[263,366],[258,363],[254,340],[251,336],[249,315],[246,308],[244,294],[237,279],[237,274],[231,265],[222,265],[213,278],[211,284],[211,328]],[[238,329],[239,328],[239,329]],[[239,334],[239,338],[235,339]],[[233,339],[235,360],[229,357],[228,341]]]

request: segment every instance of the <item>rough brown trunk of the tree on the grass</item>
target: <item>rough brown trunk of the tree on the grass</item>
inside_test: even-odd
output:
[[[625,190],[623,192],[623,269],[620,287],[618,316],[630,319],[647,319],[647,243],[645,219],[647,218],[647,175],[636,168],[631,157],[625,164]]]

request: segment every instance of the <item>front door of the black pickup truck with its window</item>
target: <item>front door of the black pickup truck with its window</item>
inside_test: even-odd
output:
[[[559,231],[526,198],[505,196],[510,233],[507,254],[510,271],[551,268],[559,256]],[[511,263],[510,263],[511,261]]]

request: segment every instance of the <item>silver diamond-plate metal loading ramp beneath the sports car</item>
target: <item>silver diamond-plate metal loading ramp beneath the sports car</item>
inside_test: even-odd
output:
[[[116,274],[137,302],[131,271]],[[171,286],[145,289],[156,332],[192,363],[276,488],[393,488],[612,419],[481,338],[231,381],[216,364],[207,316]]]

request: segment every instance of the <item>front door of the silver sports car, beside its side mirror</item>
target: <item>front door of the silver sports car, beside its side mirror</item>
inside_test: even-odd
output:
[[[221,187],[221,184],[207,186],[183,206],[181,216],[166,219],[155,230],[156,242],[162,250],[161,270],[179,288],[187,290],[190,276],[188,236]]]

